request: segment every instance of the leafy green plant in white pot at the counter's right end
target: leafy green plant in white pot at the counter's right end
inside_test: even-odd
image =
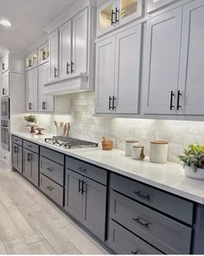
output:
[[[179,158],[186,176],[204,180],[204,146],[191,144],[188,148],[184,148],[183,153]]]

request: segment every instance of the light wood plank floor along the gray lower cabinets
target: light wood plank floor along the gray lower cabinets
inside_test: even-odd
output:
[[[108,254],[0,162],[0,254]]]

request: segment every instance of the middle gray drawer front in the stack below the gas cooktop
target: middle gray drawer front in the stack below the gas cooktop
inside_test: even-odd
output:
[[[64,185],[64,167],[60,164],[41,156],[40,171],[61,186]]]

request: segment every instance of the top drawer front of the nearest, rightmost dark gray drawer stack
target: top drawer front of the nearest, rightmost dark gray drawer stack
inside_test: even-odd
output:
[[[117,174],[111,174],[111,187],[178,220],[190,225],[193,223],[194,204],[188,200],[182,200],[172,194],[167,194],[137,181],[131,181]]]

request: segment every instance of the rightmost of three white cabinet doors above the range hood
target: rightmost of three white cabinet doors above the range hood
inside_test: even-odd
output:
[[[87,72],[88,10],[73,17],[73,61],[71,73],[80,75]]]

